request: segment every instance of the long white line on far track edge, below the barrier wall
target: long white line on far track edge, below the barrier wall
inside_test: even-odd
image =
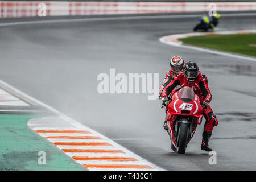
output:
[[[33,20],[24,22],[0,23],[0,27],[17,26],[26,24],[43,24],[43,23],[69,23],[69,22],[92,22],[104,20],[139,20],[139,19],[161,19],[161,18],[197,18],[201,14],[195,15],[143,15],[143,16],[121,16],[121,17],[101,17],[101,18],[74,18],[74,19],[53,19],[53,20]],[[222,17],[233,16],[256,16],[256,13],[228,13],[221,14]]]

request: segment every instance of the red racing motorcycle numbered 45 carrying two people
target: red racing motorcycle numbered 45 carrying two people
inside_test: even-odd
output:
[[[185,154],[197,125],[202,122],[204,110],[200,105],[199,96],[188,86],[178,88],[171,98],[172,102],[166,107],[171,149],[178,154]]]

